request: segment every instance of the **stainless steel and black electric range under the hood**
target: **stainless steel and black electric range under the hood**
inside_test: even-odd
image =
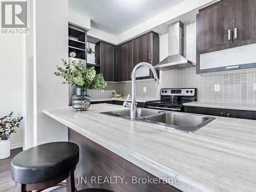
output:
[[[197,100],[196,88],[161,89],[159,101],[148,101],[146,108],[168,111],[183,111],[183,103]]]

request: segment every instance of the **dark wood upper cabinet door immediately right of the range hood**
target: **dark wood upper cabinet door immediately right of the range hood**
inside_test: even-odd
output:
[[[200,10],[197,18],[197,50],[211,52],[229,48],[232,44],[231,32],[232,0],[222,0]]]

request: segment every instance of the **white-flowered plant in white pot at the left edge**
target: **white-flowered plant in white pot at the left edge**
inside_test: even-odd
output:
[[[13,117],[13,112],[9,115],[0,116],[0,159],[5,159],[10,156],[11,144],[8,138],[11,134],[16,133],[16,129],[19,127],[19,122],[23,119],[20,113],[17,117]]]

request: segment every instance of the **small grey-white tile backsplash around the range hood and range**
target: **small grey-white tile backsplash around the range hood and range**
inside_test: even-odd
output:
[[[159,34],[160,61],[168,56],[168,31]],[[196,62],[196,20],[184,24],[184,55]],[[237,102],[256,104],[256,70],[230,71],[219,73],[196,74],[196,67],[160,71],[160,85],[153,79],[136,82],[137,97],[159,98],[161,88],[197,88],[198,100],[205,102]],[[214,85],[220,84],[220,91],[214,91]],[[146,92],[143,92],[146,87]],[[111,98],[116,90],[126,97],[131,94],[131,82],[110,82],[104,92],[88,90],[91,98]]]

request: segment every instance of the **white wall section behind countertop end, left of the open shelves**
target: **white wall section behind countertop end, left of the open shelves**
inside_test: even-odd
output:
[[[65,141],[67,127],[42,114],[68,106],[68,86],[54,76],[61,58],[68,60],[68,0],[34,1],[34,145]]]

